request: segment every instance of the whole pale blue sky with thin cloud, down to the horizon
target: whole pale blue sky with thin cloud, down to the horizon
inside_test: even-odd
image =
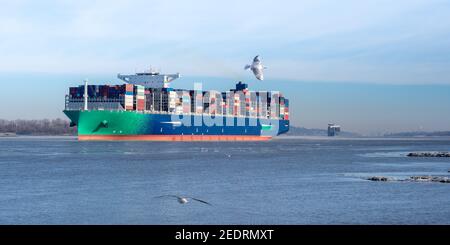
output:
[[[180,87],[196,79],[211,89],[234,80],[276,88],[291,98],[294,125],[336,121],[372,134],[450,130],[450,1],[1,6],[0,84],[9,92],[0,97],[0,118],[63,117],[67,86],[84,77],[116,83],[115,74],[152,65],[181,72]],[[242,69],[256,54],[269,67],[264,82]]]

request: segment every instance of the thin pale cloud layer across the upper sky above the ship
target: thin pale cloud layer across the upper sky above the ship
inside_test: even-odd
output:
[[[450,3],[17,1],[2,6],[0,72],[117,73],[154,65],[239,77],[449,83]],[[268,74],[269,75],[269,74]]]

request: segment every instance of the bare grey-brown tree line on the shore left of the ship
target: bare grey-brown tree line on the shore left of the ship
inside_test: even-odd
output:
[[[76,135],[76,129],[63,119],[3,120],[0,119],[0,133],[18,135]]]

